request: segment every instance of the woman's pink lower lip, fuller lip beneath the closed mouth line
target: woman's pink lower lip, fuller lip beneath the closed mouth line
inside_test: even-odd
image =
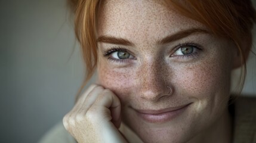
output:
[[[190,104],[186,105],[183,108],[180,108],[175,111],[169,111],[166,113],[161,113],[161,114],[144,114],[144,113],[139,113],[136,111],[138,116],[140,116],[143,120],[149,123],[165,123],[168,121],[171,121],[175,117],[177,117],[179,114],[181,114]]]

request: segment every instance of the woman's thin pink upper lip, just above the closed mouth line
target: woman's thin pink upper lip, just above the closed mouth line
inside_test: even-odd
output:
[[[181,108],[184,108],[189,104],[178,105],[176,107],[168,107],[168,108],[164,108],[161,110],[140,110],[140,109],[134,109],[134,110],[141,114],[163,114],[163,113],[167,113],[167,112],[171,112],[171,111],[180,110]]]

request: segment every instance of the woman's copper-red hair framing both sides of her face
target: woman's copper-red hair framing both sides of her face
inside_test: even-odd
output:
[[[97,67],[96,23],[100,0],[68,0],[75,14],[75,33],[81,45],[86,66],[82,89],[91,79]],[[243,64],[239,84],[236,89],[242,91],[246,75],[246,58],[252,46],[252,28],[256,13],[250,0],[165,0],[181,15],[198,21],[208,27],[218,37],[231,40],[239,49]],[[77,96],[78,97],[78,96]]]

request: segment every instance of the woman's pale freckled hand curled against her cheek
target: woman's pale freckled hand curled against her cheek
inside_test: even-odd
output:
[[[119,132],[121,103],[109,89],[91,85],[63,118],[66,130],[81,142],[127,142]]]

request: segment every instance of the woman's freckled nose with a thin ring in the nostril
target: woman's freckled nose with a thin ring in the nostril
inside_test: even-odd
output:
[[[138,71],[138,95],[151,102],[167,98],[171,94],[168,79],[169,70],[166,64],[159,62],[144,63]]]

